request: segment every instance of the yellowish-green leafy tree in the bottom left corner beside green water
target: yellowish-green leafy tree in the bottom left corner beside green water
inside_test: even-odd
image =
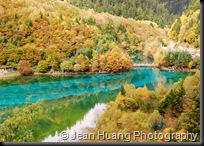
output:
[[[30,129],[31,123],[42,112],[40,103],[33,103],[23,109],[15,108],[11,118],[0,124],[1,142],[32,142],[34,133]]]

